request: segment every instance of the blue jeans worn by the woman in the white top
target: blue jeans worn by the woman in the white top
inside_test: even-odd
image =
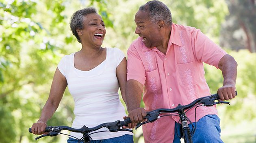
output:
[[[69,138],[67,143],[77,143],[77,139]],[[82,142],[83,143],[83,142]],[[120,137],[114,137],[110,139],[93,140],[91,143],[133,143],[132,135],[122,135]]]

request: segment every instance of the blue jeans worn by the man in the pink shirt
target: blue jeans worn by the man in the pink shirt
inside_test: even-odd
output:
[[[201,118],[196,124],[195,134],[192,137],[193,143],[223,143],[220,138],[219,122],[220,119],[217,115],[206,115]],[[195,126],[195,122],[193,122],[193,125]],[[189,128],[192,129],[191,124],[189,124]],[[181,136],[180,132],[182,132],[181,124],[176,122],[173,143],[180,143],[180,137],[178,137],[178,135]]]

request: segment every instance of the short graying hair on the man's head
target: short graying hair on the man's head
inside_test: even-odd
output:
[[[158,0],[149,1],[140,6],[139,11],[149,12],[149,18],[153,23],[163,20],[167,25],[171,26],[171,11],[163,2]]]

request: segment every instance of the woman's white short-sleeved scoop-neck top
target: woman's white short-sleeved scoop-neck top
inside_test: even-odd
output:
[[[67,79],[67,86],[74,102],[75,119],[73,128],[82,126],[94,127],[105,122],[124,120],[124,106],[118,95],[116,68],[125,58],[118,48],[106,48],[106,60],[89,71],[81,71],[74,67],[74,53],[65,55],[58,65],[61,74]],[[102,128],[97,131],[107,130]],[[90,135],[93,140],[109,139],[122,135],[133,135],[132,132],[98,132]],[[80,139],[81,133],[70,132]]]

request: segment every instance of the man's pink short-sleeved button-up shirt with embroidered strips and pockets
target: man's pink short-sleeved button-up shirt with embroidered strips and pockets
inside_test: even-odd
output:
[[[210,95],[204,78],[204,63],[218,68],[226,52],[194,27],[172,24],[166,55],[156,47],[147,48],[142,37],[128,49],[127,80],[137,80],[145,86],[145,110],[174,108],[187,105],[197,98]],[[198,107],[197,121],[207,114],[217,114],[215,107]],[[195,122],[194,109],[187,117]],[[146,143],[170,143],[174,138],[178,116],[166,116],[143,125]]]

